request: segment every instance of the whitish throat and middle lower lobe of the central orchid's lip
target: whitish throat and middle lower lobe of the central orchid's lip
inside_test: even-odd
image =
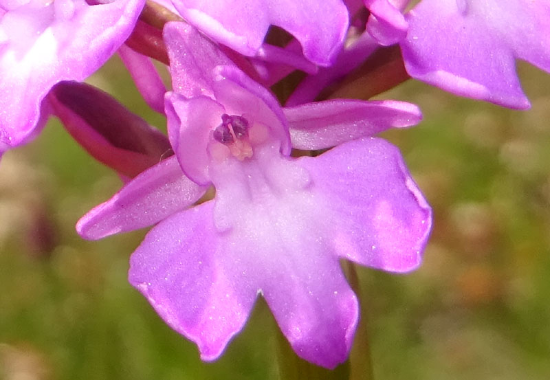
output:
[[[243,165],[213,165],[214,226],[224,257],[246,268],[296,353],[333,368],[344,361],[358,320],[355,295],[331,246],[330,208],[299,161],[276,145]],[[232,252],[232,253],[230,253]]]

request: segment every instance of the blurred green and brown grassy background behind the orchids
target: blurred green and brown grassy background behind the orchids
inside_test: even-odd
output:
[[[403,150],[435,227],[415,273],[358,268],[377,379],[550,376],[550,77],[520,69],[531,111],[412,81],[383,94],[424,111],[420,126],[384,136]],[[93,82],[141,111],[117,70]],[[3,157],[0,377],[275,379],[276,325],[263,302],[225,355],[204,364],[126,282],[144,232],[76,235],[78,218],[119,186],[56,122]]]

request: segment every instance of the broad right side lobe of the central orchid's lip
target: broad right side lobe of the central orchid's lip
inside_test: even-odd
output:
[[[395,146],[371,137],[300,161],[332,207],[339,256],[394,272],[420,265],[432,214]]]

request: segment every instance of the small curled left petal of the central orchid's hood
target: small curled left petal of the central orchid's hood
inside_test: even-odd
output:
[[[210,183],[208,142],[212,130],[221,124],[225,109],[206,96],[186,99],[178,93],[166,93],[168,137],[181,169],[201,185]]]

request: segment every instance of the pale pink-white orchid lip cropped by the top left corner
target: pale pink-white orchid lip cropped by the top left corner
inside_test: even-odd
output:
[[[48,91],[84,80],[128,38],[144,0],[0,2],[0,143],[31,139],[47,119]]]

